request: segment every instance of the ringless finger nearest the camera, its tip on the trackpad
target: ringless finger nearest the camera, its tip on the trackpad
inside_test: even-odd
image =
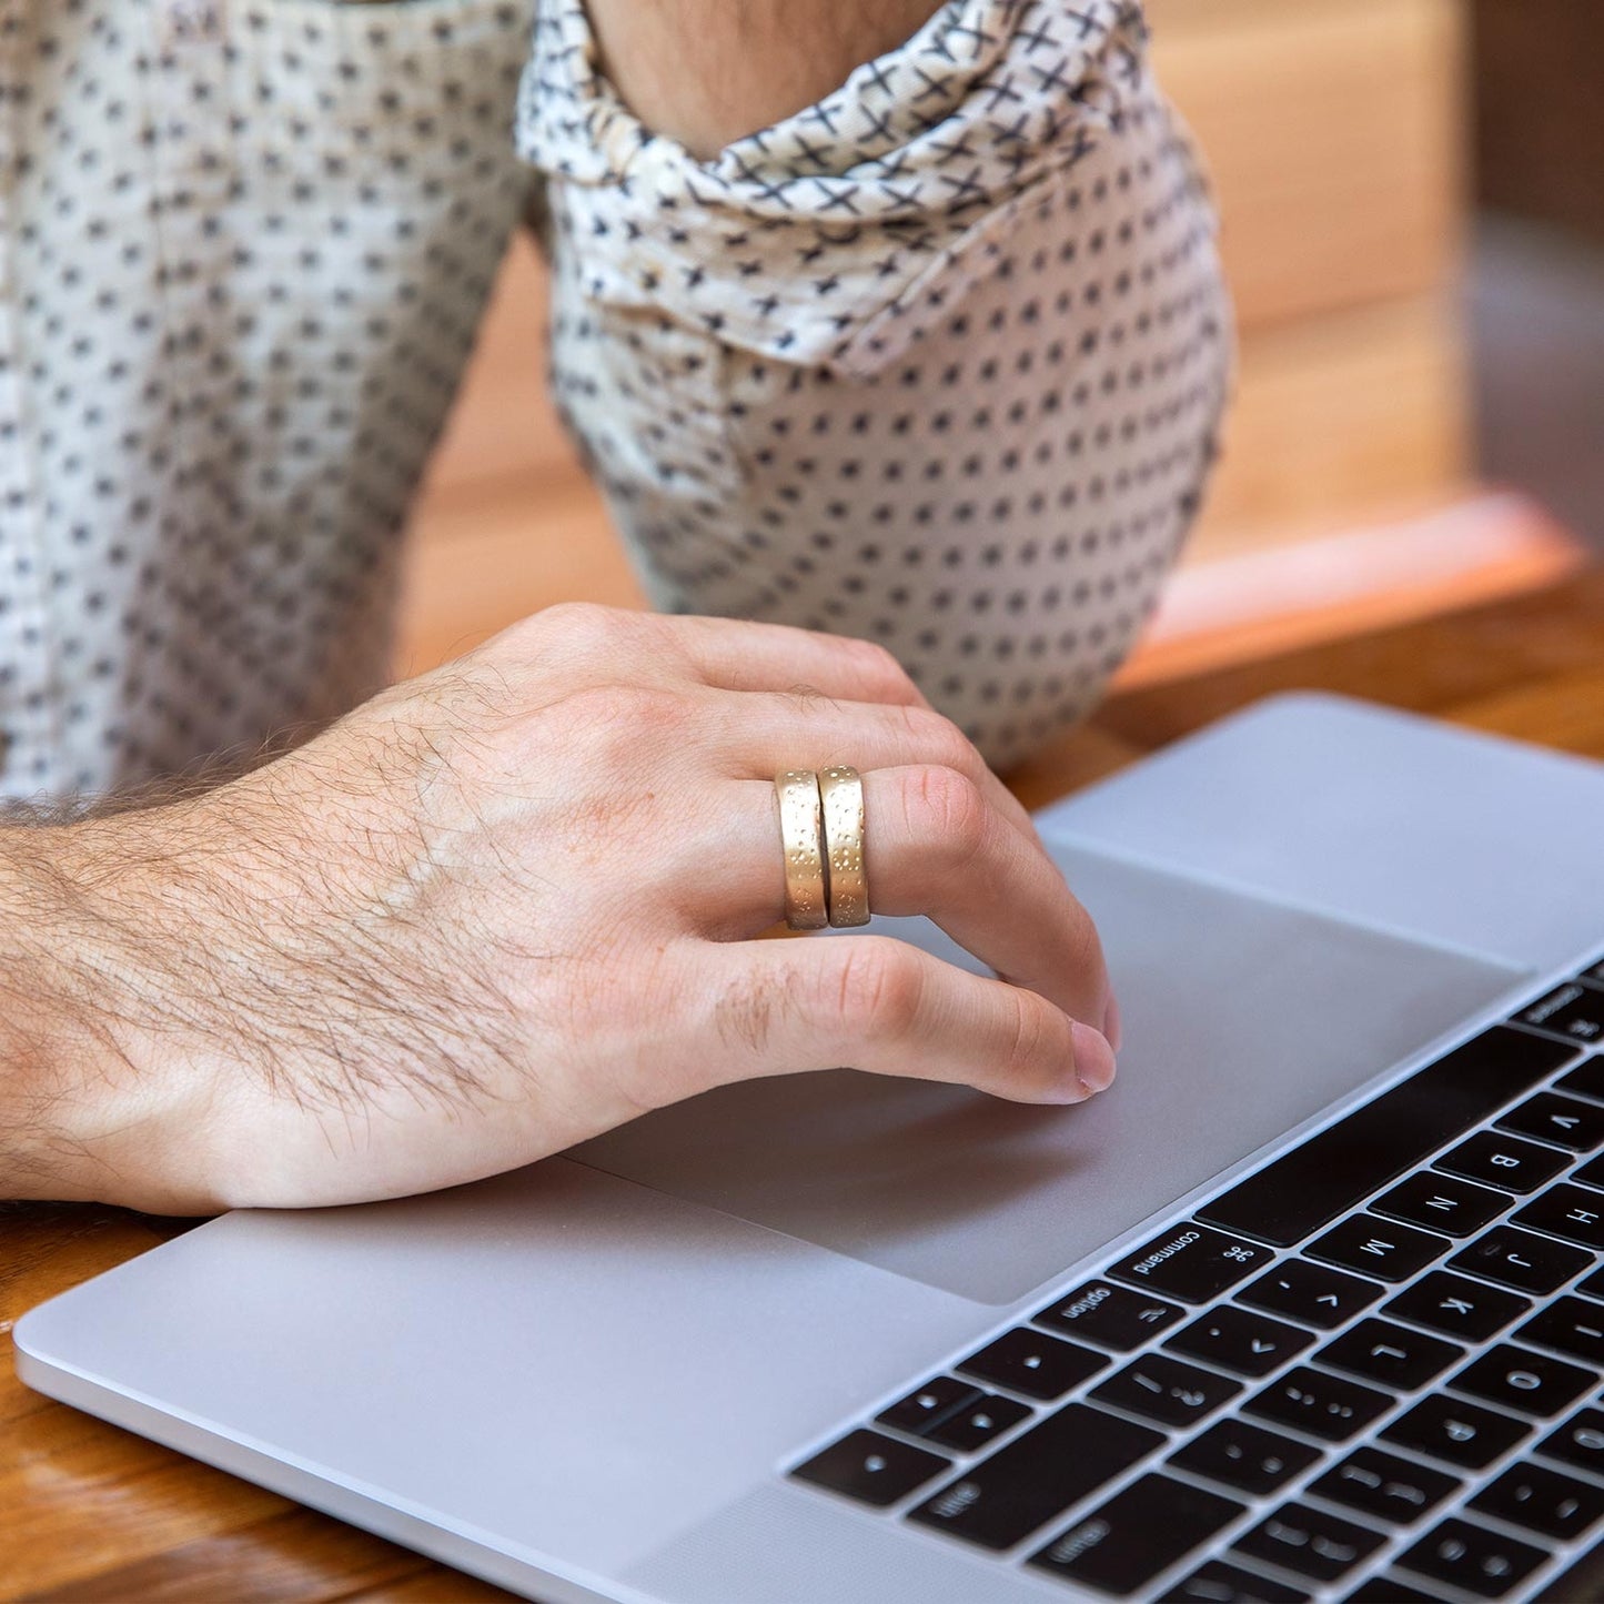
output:
[[[709,1084],[850,1067],[1065,1104],[1113,1079],[1089,1025],[889,937],[704,945],[683,978]]]

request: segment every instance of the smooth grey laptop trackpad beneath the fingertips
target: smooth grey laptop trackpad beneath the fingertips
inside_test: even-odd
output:
[[[1033,1108],[855,1070],[722,1088],[569,1155],[990,1304],[1014,1302],[1521,975],[1057,847],[1104,935],[1120,1078]],[[926,921],[877,921],[978,969]]]

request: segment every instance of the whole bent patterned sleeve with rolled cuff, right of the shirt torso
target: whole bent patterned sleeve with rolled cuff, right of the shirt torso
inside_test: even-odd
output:
[[[993,762],[1152,611],[1229,388],[1214,218],[1140,8],[954,0],[699,162],[542,8],[553,390],[654,605],[890,646]]]

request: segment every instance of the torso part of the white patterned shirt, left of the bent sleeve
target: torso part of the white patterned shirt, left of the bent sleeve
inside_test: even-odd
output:
[[[513,0],[0,0],[0,789],[387,677],[407,505],[523,215]]]

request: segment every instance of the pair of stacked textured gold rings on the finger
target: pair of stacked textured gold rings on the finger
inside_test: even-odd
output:
[[[836,764],[823,773],[775,775],[786,866],[786,924],[792,930],[869,922],[863,853],[863,780]]]

